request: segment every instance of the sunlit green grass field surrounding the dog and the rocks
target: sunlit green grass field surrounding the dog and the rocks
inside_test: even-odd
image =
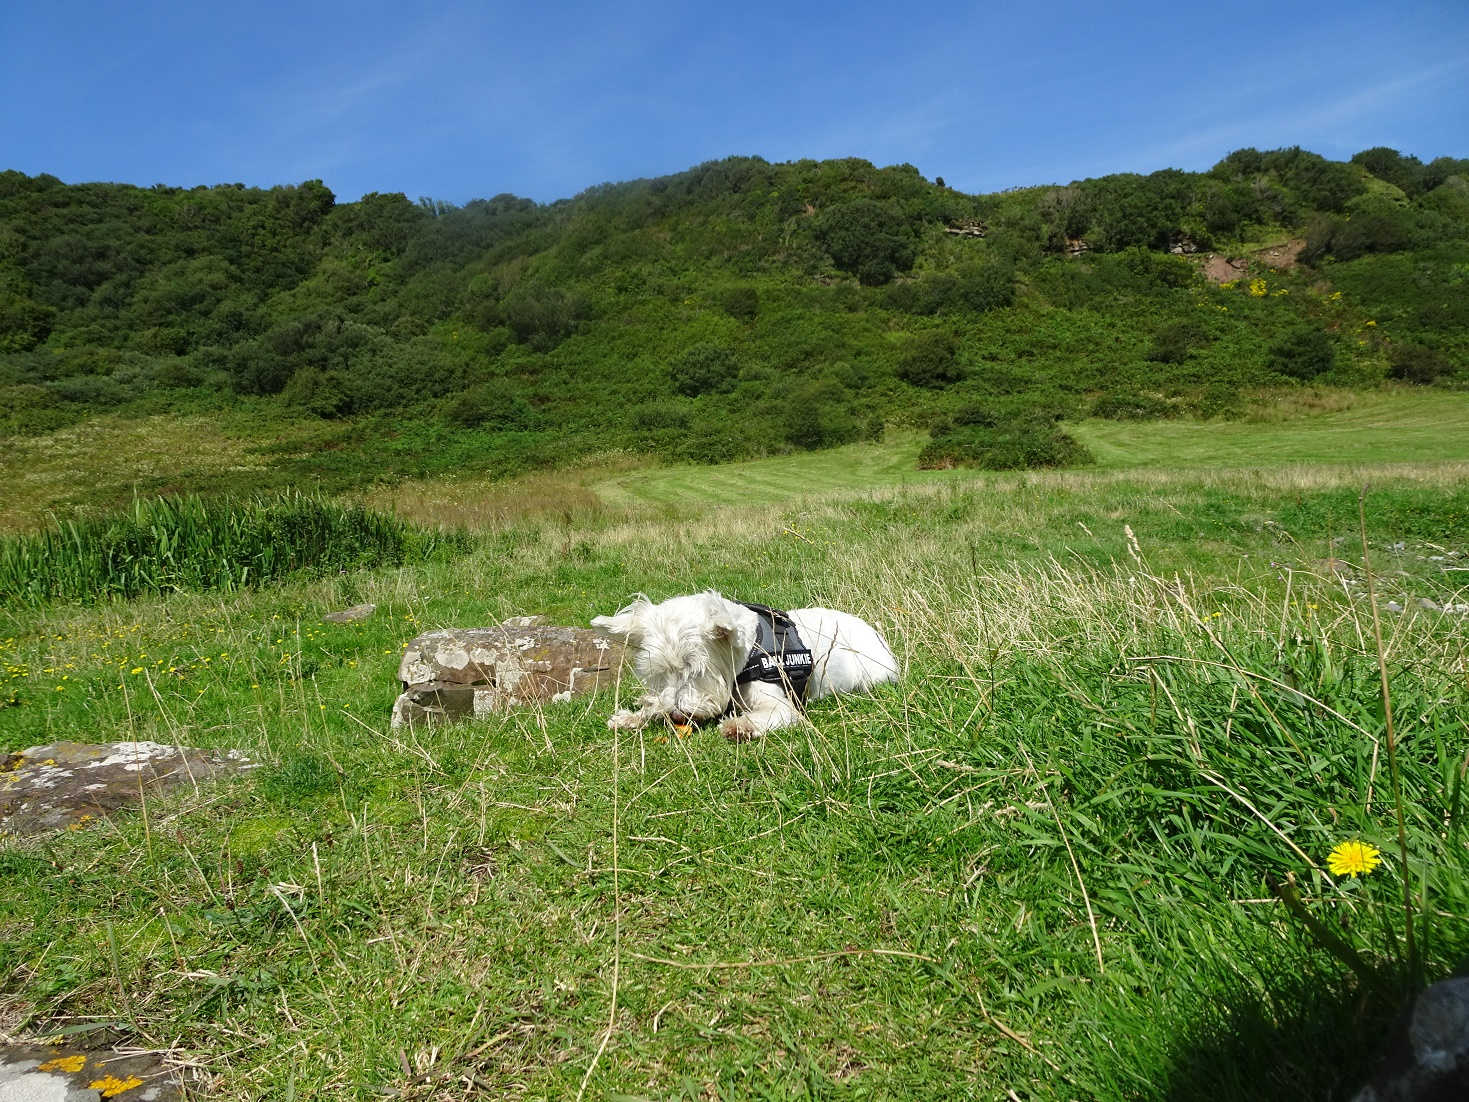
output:
[[[116,1023],[210,1099],[1350,1096],[1469,952],[1469,624],[1418,604],[1469,599],[1466,413],[1375,401],[1084,426],[1086,472],[918,475],[899,441],[383,491],[474,548],[0,613],[0,749],[264,763],[0,840],[0,1033]],[[711,585],[862,614],[905,676],[740,746],[608,732],[630,682],[386,727],[420,630]],[[1328,870],[1350,839],[1371,876]]]

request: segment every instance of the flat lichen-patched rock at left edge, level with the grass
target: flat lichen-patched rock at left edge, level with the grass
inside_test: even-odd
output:
[[[0,754],[0,835],[62,830],[165,788],[254,768],[238,751],[160,742],[53,742]]]

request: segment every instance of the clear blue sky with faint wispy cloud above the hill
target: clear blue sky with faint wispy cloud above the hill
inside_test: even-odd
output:
[[[1469,157],[1469,0],[9,0],[0,169],[549,201],[729,154],[964,191],[1241,145]]]

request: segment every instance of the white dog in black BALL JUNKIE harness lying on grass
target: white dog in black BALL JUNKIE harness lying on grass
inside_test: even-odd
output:
[[[712,589],[652,604],[640,594],[596,627],[627,638],[649,692],[608,727],[636,730],[665,717],[680,732],[720,720],[736,742],[784,727],[805,701],[898,680],[898,661],[865,620],[830,608],[779,613]]]

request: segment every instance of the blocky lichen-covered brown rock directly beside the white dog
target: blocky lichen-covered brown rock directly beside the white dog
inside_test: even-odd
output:
[[[392,726],[439,723],[567,699],[610,685],[623,644],[596,629],[520,616],[495,627],[451,627],[408,642]]]

